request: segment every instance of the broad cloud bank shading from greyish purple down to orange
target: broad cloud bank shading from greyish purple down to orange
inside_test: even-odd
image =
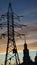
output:
[[[28,48],[30,50],[37,50],[37,20],[36,22],[26,22],[25,23],[27,27],[23,27],[22,30],[21,28],[16,28],[15,31],[18,33],[26,33],[26,41],[28,44]],[[3,30],[0,31],[0,33],[6,32],[7,28],[4,28]],[[20,36],[20,35],[19,35]],[[23,45],[24,45],[25,38],[23,39],[19,38],[16,39],[16,45],[18,51],[22,51]],[[7,46],[7,38],[5,39],[0,39],[0,53],[6,52],[6,46]]]

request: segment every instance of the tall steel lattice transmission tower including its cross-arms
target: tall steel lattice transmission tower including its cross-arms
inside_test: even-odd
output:
[[[11,65],[13,64],[12,62],[14,62],[16,65],[20,64],[15,38],[22,38],[21,36],[25,36],[24,28],[27,26],[24,24],[15,23],[14,19],[20,21],[20,17],[23,16],[17,16],[16,13],[13,12],[11,3],[9,3],[8,11],[0,16],[0,21],[2,21],[2,19],[5,21],[0,23],[0,30],[2,30],[0,39],[2,39],[2,37],[7,37],[7,48],[4,65]]]

